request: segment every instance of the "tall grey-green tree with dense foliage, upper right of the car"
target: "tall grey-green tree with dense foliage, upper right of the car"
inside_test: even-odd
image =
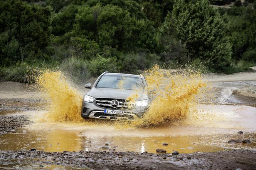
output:
[[[167,19],[184,44],[186,55],[199,58],[217,71],[231,61],[231,43],[226,37],[226,23],[208,0],[177,0]],[[171,22],[169,22],[171,24]]]

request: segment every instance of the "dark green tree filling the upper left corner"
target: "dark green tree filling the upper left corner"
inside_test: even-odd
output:
[[[35,58],[50,41],[51,8],[20,0],[0,1],[2,65]]]

